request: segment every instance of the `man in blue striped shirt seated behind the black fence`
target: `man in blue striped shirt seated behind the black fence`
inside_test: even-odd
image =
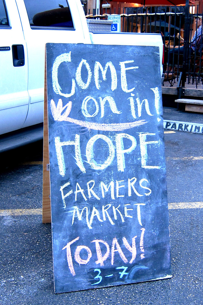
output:
[[[196,52],[197,53],[201,53],[201,49],[203,47],[203,38],[202,37],[202,16],[198,16],[198,18],[195,18],[195,24],[197,24],[197,31],[195,31],[194,36],[191,40],[190,43],[190,54],[194,54],[195,48],[196,48]],[[179,33],[177,34],[177,37],[180,38],[181,42],[184,42],[184,39],[179,35]],[[202,40],[202,41],[201,41]],[[164,81],[168,81],[171,80],[173,77],[173,54],[174,54],[174,61],[177,60],[177,56],[179,54],[183,55],[183,50],[184,47],[180,47],[180,48],[174,48],[171,49],[169,51],[169,63],[167,63],[167,71],[164,74]]]

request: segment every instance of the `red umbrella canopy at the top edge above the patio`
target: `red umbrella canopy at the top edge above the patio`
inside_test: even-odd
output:
[[[109,0],[110,2],[127,2],[127,3],[138,3],[142,5],[180,5],[185,4],[186,0]]]

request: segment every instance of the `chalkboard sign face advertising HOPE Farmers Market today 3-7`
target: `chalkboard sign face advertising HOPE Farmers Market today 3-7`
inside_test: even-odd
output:
[[[170,278],[159,49],[46,44],[55,292]]]

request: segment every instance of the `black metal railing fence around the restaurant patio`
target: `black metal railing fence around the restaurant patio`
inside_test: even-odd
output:
[[[202,26],[201,35],[194,39],[193,48],[191,41],[198,24],[195,18],[202,17],[202,14],[190,14],[190,7],[185,6],[157,6],[157,7],[136,7],[126,8],[120,12],[106,9],[101,14],[86,16],[87,19],[107,20],[109,14],[119,14],[121,16],[121,31],[135,33],[160,33],[164,45],[163,70],[165,81],[178,82],[178,86],[184,87],[185,81],[195,83],[202,82],[203,77],[203,38]],[[191,6],[193,11],[193,6]],[[198,11],[198,7],[197,7]]]

